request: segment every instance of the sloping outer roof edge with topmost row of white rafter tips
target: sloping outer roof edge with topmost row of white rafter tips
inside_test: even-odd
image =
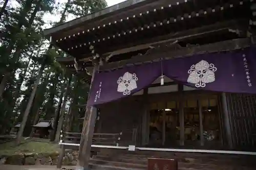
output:
[[[146,2],[145,0],[129,0],[115,6],[105,8],[99,12],[92,13],[81,18],[77,18],[72,21],[63,23],[62,25],[53,27],[51,29],[47,29],[44,31],[44,34],[52,35],[58,32],[62,32],[65,34],[69,34],[72,37],[73,34],[82,34],[82,31],[93,32],[112,25],[122,25],[125,20],[129,20],[129,18],[132,19],[134,17],[141,17],[141,15],[148,14],[151,10],[151,12],[153,12],[154,10],[154,12],[156,13],[156,10],[163,10],[163,6],[167,5],[167,7],[171,8],[172,6],[179,6],[180,4],[187,3],[189,1],[191,0],[172,0],[169,2],[156,2],[154,0],[147,0]],[[102,17],[104,17],[104,19],[102,19]],[[80,27],[84,22],[87,22],[87,28],[81,31],[81,29],[79,29],[78,27]],[[75,29],[75,27],[77,28]]]

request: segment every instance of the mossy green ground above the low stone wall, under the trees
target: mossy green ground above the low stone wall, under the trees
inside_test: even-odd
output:
[[[60,152],[58,144],[51,142],[23,140],[21,144],[16,145],[15,141],[0,144],[1,155],[29,154],[29,153],[54,153]]]

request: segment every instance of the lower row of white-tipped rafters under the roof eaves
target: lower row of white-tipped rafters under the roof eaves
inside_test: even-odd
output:
[[[82,33],[79,33],[80,38],[75,38],[76,35],[73,34],[71,36],[68,36],[67,39],[66,37],[63,39],[60,39],[60,41],[57,40],[57,42],[59,42],[60,46],[67,46],[68,43],[68,39],[71,39],[71,42],[73,42],[74,40],[77,41],[77,43],[68,43],[68,44],[72,44],[71,46],[67,46],[67,52],[73,54],[76,52],[79,52],[79,54],[84,53],[84,47],[86,46],[90,46],[90,45],[100,45],[101,43],[105,44],[105,43],[110,43],[111,41],[115,40],[118,41],[121,37],[127,37],[127,36],[131,36],[131,35],[137,35],[138,33],[141,34],[145,34],[146,32],[148,32],[150,29],[155,30],[155,29],[163,29],[164,27],[169,28],[170,26],[168,25],[172,25],[172,27],[174,28],[173,24],[178,24],[178,23],[183,23],[184,21],[186,22],[192,22],[192,21],[188,21],[188,20],[198,20],[198,18],[205,18],[207,16],[211,16],[214,13],[218,13],[217,11],[226,11],[233,8],[232,4],[225,4],[223,5],[223,7],[220,6],[216,6],[215,8],[210,8],[210,9],[204,9],[204,10],[199,10],[199,11],[193,11],[190,14],[181,14],[178,15],[176,17],[170,17],[168,19],[163,18],[163,20],[154,20],[153,22],[146,22],[146,23],[142,23],[142,25],[140,26],[136,26],[133,27],[133,29],[131,30],[126,30],[126,27],[124,27],[125,29],[122,29],[122,31],[120,32],[113,32],[112,34],[106,34],[103,33],[101,35],[105,35],[105,36],[100,36],[100,37],[95,37],[95,36],[89,36],[89,37],[94,37],[94,38],[86,38],[88,39],[88,41],[84,41],[85,38],[82,38],[83,36],[87,36],[84,31]],[[221,12],[219,12],[221,13]],[[217,14],[215,14],[217,15]],[[168,16],[166,16],[168,17]],[[171,29],[173,30],[173,29]],[[88,30],[89,31],[89,30]],[[174,31],[174,30],[173,30]],[[87,36],[88,37],[88,36]],[[83,49],[83,51],[81,52],[81,49]]]

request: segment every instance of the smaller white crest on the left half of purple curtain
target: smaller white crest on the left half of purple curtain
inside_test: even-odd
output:
[[[131,91],[137,88],[136,81],[138,81],[136,74],[125,72],[125,74],[117,80],[117,91],[122,92],[123,95],[131,94]]]

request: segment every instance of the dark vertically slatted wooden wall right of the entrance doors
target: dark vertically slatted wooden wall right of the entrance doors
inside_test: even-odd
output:
[[[256,95],[226,95],[233,148],[256,150]]]

